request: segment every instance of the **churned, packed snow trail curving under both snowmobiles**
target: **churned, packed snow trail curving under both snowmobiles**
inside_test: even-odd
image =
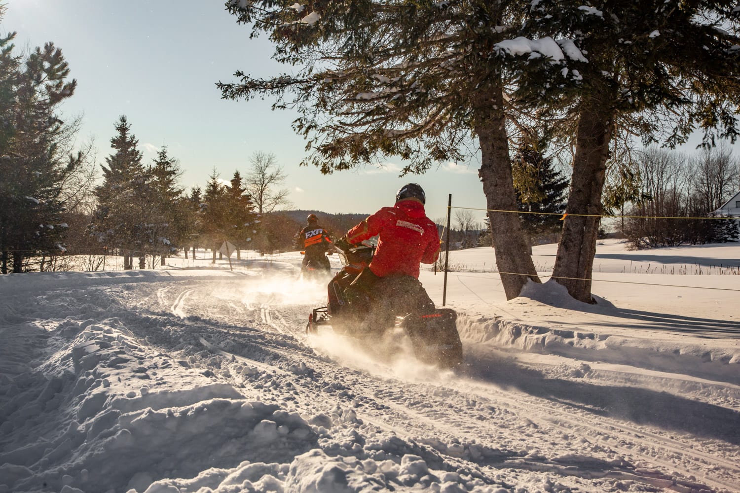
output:
[[[414,361],[377,361],[356,348],[337,354],[337,337],[305,333],[307,314],[323,301],[323,288],[309,286],[303,296],[289,299],[268,281],[190,279],[164,288],[132,283],[100,286],[94,296],[110,303],[132,338],[146,339],[174,359],[181,358],[183,344],[199,345],[211,356],[191,356],[191,364],[204,370],[215,365],[221,373],[212,377],[225,379],[246,398],[272,396],[291,411],[317,416],[310,422],[319,446],[330,455],[349,453],[352,440],[383,436],[395,443],[387,438],[395,436],[400,449],[430,467],[464,471],[492,485],[480,491],[499,491],[493,486],[512,483],[523,472],[539,477],[551,491],[606,491],[607,486],[613,491],[740,491],[738,432],[726,435],[735,439],[730,443],[713,436],[711,426],[699,430],[704,436],[661,429],[650,426],[650,416],[640,416],[647,422],[642,424],[620,418],[607,409],[610,401],[597,397],[611,387],[624,396],[650,395],[663,407],[704,409],[699,404],[707,389],[737,404],[740,392],[733,384],[699,385],[667,373],[652,381],[642,372],[630,374],[625,365],[573,376],[568,371],[582,367],[580,361],[561,357],[554,366],[469,347],[466,371],[458,375]],[[73,294],[56,299],[60,319],[67,305],[72,307],[68,313],[84,319],[91,310],[84,299]],[[38,326],[55,328],[48,321]],[[158,327],[169,327],[171,334],[160,336]],[[570,370],[559,372],[561,366]],[[672,387],[695,390],[682,398],[660,393]],[[568,392],[578,399],[569,399]],[[630,403],[623,404],[630,415]],[[648,490],[632,490],[630,484]]]

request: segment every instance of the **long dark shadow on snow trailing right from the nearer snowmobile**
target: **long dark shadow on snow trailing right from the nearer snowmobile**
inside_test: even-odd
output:
[[[740,445],[740,412],[667,392],[548,378],[538,370],[522,368],[515,361],[496,356],[471,362],[468,376],[594,415]]]

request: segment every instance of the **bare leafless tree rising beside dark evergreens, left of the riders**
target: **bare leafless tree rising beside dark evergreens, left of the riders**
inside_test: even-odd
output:
[[[252,195],[252,203],[259,214],[272,212],[280,205],[291,205],[287,188],[278,188],[285,183],[287,175],[277,164],[275,154],[257,151],[249,159],[252,169],[246,175],[245,186]]]

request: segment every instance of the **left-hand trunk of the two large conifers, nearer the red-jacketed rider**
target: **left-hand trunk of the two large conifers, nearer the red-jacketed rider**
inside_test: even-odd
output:
[[[500,87],[479,95],[475,131],[480,141],[481,166],[478,176],[489,209],[517,211],[517,195],[511,176],[506,135],[503,92]],[[519,296],[528,279],[540,282],[534,269],[529,245],[522,231],[519,214],[488,211],[492,244],[496,245],[496,265],[506,299]]]

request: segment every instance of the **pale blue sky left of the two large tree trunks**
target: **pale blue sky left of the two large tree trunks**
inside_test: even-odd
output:
[[[269,57],[266,38],[249,39],[221,0],[0,0],[7,12],[0,33],[17,31],[16,50],[53,41],[77,79],[62,107],[83,116],[80,143],[95,138],[98,162],[112,152],[119,115],[126,115],[146,162],[164,142],[177,158],[186,188],[204,186],[215,168],[229,180],[249,171],[255,151],[275,154],[288,180],[294,208],[371,213],[391,205],[400,186],[420,183],[427,214],[445,216],[453,205],[485,208],[477,163],[442,166],[399,178],[400,160],[381,171],[364,168],[323,176],[299,167],[305,141],[292,131],[295,114],[272,112],[272,101],[225,101],[218,81],[234,81],[237,69],[252,75],[287,72]],[[454,217],[454,216],[453,216]],[[476,214],[482,220],[484,213]]]

